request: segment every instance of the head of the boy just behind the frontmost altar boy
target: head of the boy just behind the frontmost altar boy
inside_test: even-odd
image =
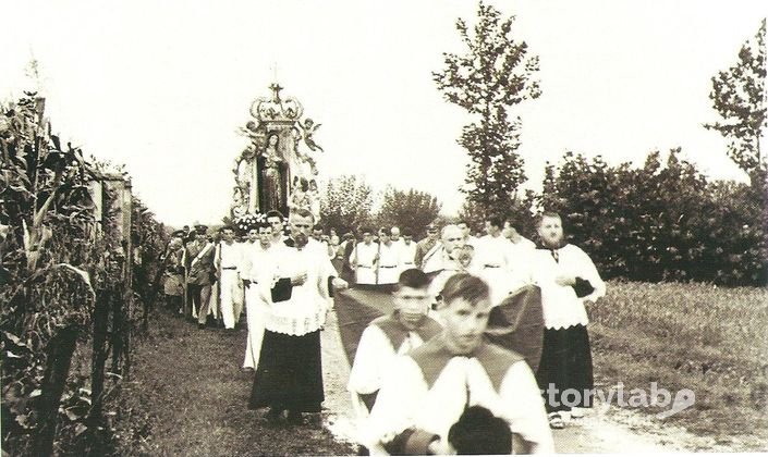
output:
[[[431,305],[429,276],[415,268],[403,271],[393,296],[400,323],[409,330],[418,329]]]

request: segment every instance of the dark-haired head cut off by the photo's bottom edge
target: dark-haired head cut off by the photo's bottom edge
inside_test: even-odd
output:
[[[471,406],[448,431],[448,442],[459,455],[509,455],[512,431],[509,423],[481,406]]]

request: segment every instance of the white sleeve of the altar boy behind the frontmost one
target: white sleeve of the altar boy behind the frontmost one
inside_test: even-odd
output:
[[[346,390],[364,395],[378,391],[385,366],[393,357],[394,349],[387,335],[378,326],[368,325],[359,338]]]

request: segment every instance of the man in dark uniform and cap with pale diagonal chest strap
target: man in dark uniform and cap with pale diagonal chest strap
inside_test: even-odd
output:
[[[205,317],[208,314],[210,286],[215,274],[214,251],[216,250],[214,244],[208,240],[207,232],[206,225],[195,225],[195,240],[188,243],[184,250],[184,267],[187,272],[187,309],[184,313],[190,318],[193,314],[199,317],[203,313],[204,324]]]

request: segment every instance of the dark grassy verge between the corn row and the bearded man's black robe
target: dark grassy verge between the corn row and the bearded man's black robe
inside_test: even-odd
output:
[[[247,409],[253,374],[240,371],[244,330],[154,317],[123,386],[121,455],[354,454],[319,425],[268,428],[263,411]]]

